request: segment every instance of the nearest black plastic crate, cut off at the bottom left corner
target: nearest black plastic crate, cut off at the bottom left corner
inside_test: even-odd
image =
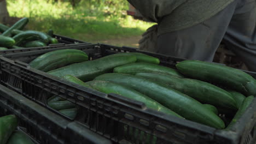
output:
[[[18,130],[34,143],[111,143],[79,123],[68,121],[0,85],[0,117],[11,114],[18,118]]]

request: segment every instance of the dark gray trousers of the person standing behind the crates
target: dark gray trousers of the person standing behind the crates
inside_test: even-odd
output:
[[[158,36],[158,53],[212,61],[221,41],[256,71],[256,2],[235,0],[210,19]]]

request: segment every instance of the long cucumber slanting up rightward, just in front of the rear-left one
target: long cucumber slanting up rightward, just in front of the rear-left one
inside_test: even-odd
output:
[[[136,62],[135,56],[117,56],[102,57],[94,61],[71,64],[66,67],[51,70],[51,75],[63,77],[65,75],[73,75],[82,81],[93,80],[96,76],[112,72],[115,67],[120,65]]]

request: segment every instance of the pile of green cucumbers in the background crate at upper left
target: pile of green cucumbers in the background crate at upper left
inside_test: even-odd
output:
[[[57,39],[53,38],[52,30],[49,30],[47,34],[38,31],[22,31],[27,23],[27,17],[19,20],[11,27],[0,23],[0,32],[2,33],[0,35],[0,50],[23,49],[59,43]]]

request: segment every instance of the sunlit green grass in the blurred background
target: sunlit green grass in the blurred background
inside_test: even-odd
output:
[[[116,0],[117,1],[117,0]],[[53,29],[56,34],[74,39],[94,42],[97,40],[122,39],[141,35],[153,25],[126,16],[127,3],[121,9],[104,4],[81,2],[72,8],[68,2],[44,0],[7,0],[8,11],[13,17],[29,17],[27,28],[46,32]]]

